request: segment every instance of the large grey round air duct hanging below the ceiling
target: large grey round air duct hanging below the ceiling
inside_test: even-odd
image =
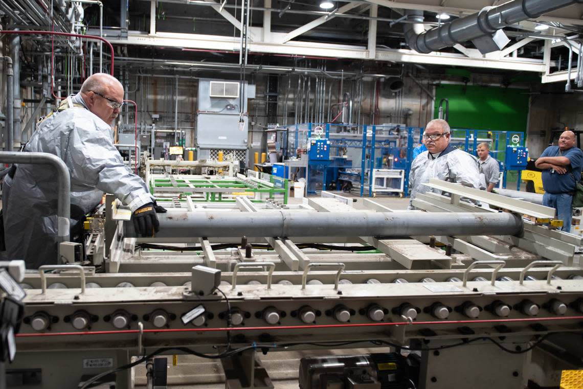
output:
[[[422,53],[438,51],[458,43],[472,41],[482,54],[502,49],[508,38],[502,29],[526,19],[536,19],[544,13],[583,3],[583,0],[514,0],[496,7],[484,7],[480,12],[461,17],[429,31],[423,27],[423,11],[407,10],[405,40],[410,48]]]

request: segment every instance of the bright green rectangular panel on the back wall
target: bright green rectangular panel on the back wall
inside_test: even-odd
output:
[[[444,84],[436,87],[437,109],[449,99],[449,125],[476,130],[526,131],[528,90]],[[445,107],[444,107],[445,108]]]

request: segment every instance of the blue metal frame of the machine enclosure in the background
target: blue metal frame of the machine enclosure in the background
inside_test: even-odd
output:
[[[298,148],[298,141],[299,141],[299,134],[300,134],[300,126],[307,126],[307,137],[311,137],[312,129],[316,126],[321,126],[324,130],[324,136],[330,139],[330,129],[331,126],[346,126],[340,124],[331,124],[331,123],[297,123],[295,127],[295,139],[294,139],[294,150]],[[354,126],[351,126],[354,127]],[[392,131],[399,129],[407,131],[407,156],[406,156],[406,169],[405,169],[405,183],[404,183],[404,192],[405,196],[409,195],[409,171],[411,168],[411,164],[413,162],[413,148],[416,147],[417,144],[420,143],[420,139],[423,136],[424,128],[419,127],[407,127],[407,128],[399,128],[398,126],[388,127],[388,126],[380,126],[380,125],[363,125],[362,126],[362,139],[344,139],[344,138],[334,138],[331,139],[331,148],[336,148],[336,153],[338,153],[338,149],[340,147],[354,147],[354,148],[361,148],[361,174],[360,174],[360,197],[364,196],[364,174],[362,172],[366,171],[367,163],[370,169],[374,168],[374,158],[375,158],[375,150],[377,148],[386,148],[386,147],[396,147],[395,140],[387,140],[381,139],[377,140],[377,130],[381,131],[389,131],[389,135]],[[371,139],[367,140],[367,133],[371,132]],[[454,146],[458,146],[459,148],[463,148],[464,151],[477,156],[476,149],[477,145],[479,144],[479,134],[480,133],[490,133],[491,139],[493,142],[493,147],[491,147],[490,154],[492,157],[496,158],[498,161],[504,161],[506,147],[508,146],[522,146],[524,147],[525,144],[525,133],[518,132],[518,131],[497,131],[497,130],[475,130],[475,129],[459,129],[459,128],[452,128],[452,137],[459,139],[462,138],[462,142],[452,140],[451,144]],[[462,136],[459,135],[460,132]],[[419,133],[419,135],[417,135]],[[511,139],[513,135],[519,136],[518,143],[512,143]],[[499,149],[503,143],[505,146],[503,149]],[[371,145],[375,145],[375,147],[371,147]],[[367,148],[370,149],[370,154],[368,154],[367,158]],[[323,182],[326,182],[326,171],[328,167],[331,167],[331,161],[318,161],[314,162],[311,161],[308,164],[308,169],[306,172],[306,184],[309,182],[309,174],[310,174],[310,165],[313,167],[324,167],[324,177]],[[507,179],[507,170],[504,169],[504,181],[503,181],[503,188],[506,188],[506,179]],[[373,175],[368,175],[368,197],[373,196]],[[520,187],[520,179],[517,179],[517,189]],[[307,190],[307,188],[306,188]]]

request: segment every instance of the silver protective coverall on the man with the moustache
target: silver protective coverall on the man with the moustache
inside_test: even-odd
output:
[[[441,190],[422,185],[429,182],[430,178],[480,189],[478,162],[472,154],[448,146],[437,158],[430,159],[429,151],[423,151],[413,160],[409,171],[409,209],[415,209],[413,199],[417,193],[434,192],[441,195]]]

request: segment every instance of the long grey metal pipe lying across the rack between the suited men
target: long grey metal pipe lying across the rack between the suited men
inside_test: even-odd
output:
[[[207,236],[416,236],[516,235],[521,217],[511,213],[296,213],[293,211],[231,213],[220,211],[158,214],[156,238]],[[133,224],[127,223],[128,236]]]

